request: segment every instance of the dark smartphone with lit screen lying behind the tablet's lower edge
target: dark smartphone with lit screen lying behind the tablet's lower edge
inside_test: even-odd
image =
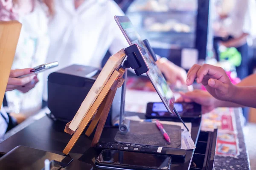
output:
[[[175,103],[174,107],[183,119],[192,119],[201,117],[201,105],[195,102]],[[147,118],[177,118],[176,115],[170,114],[162,102],[150,102],[147,104]]]

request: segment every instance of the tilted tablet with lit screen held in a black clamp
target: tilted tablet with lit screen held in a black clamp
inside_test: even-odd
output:
[[[143,56],[146,65],[148,66],[148,72],[146,72],[148,78],[160,96],[163,104],[166,106],[168,112],[173,113],[175,101],[174,94],[169,88],[166,79],[163,77],[162,72],[157,67],[144,42],[141,40],[140,35],[135,30],[127,16],[115,16],[115,20],[129,45],[136,44],[140,48],[141,55]]]

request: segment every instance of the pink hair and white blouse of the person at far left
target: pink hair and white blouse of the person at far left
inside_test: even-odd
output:
[[[0,0],[0,20],[18,20],[22,23],[20,38],[12,69],[31,68],[45,63],[49,48],[47,36],[48,14],[51,11],[41,0]],[[6,93],[9,108],[28,115],[41,109],[43,74],[35,88],[26,94],[21,91]]]

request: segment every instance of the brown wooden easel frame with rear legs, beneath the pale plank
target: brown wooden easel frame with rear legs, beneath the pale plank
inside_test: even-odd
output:
[[[106,83],[106,85],[104,86],[102,91],[99,93],[99,96],[96,98],[95,102],[93,102],[93,105],[90,107],[88,113],[84,116],[81,124],[79,125],[79,127],[77,128],[77,130],[75,132],[68,128],[70,123],[68,123],[66,125],[64,131],[69,134],[73,134],[73,133],[74,134],[73,134],[72,138],[70,139],[70,141],[68,142],[65,149],[63,150],[64,154],[68,155],[70,153],[70,150],[76,144],[77,140],[83,133],[85,127],[88,125],[88,123],[90,122],[90,120],[93,118],[94,115],[95,115],[94,119],[90,123],[85,134],[87,136],[90,136],[91,133],[93,133],[93,130],[95,129],[96,125],[99,122],[96,132],[95,132],[95,135],[93,137],[91,146],[94,146],[95,144],[97,144],[99,142],[103,127],[107,120],[108,113],[110,111],[114,96],[116,94],[116,90],[117,90],[117,88],[121,87],[124,82],[124,79],[122,78],[124,73],[125,73],[125,69],[123,69],[123,68],[119,68],[118,71],[116,71],[116,70],[113,71],[113,74],[108,79],[108,82]]]

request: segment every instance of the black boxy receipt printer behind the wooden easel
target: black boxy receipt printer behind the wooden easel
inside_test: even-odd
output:
[[[84,65],[70,65],[48,76],[48,108],[55,119],[70,122],[90,91],[101,69]],[[112,125],[119,117],[121,89],[116,91],[105,125]]]

